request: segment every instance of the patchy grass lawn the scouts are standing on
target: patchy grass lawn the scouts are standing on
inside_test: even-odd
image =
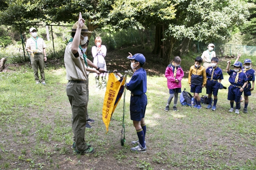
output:
[[[128,56],[128,50],[124,54]],[[114,57],[119,55],[111,51],[108,56],[108,68],[131,69],[125,57]],[[71,106],[66,95],[63,62],[47,64],[47,85],[35,85],[29,64],[9,65],[0,73],[0,170],[256,169],[255,90],[249,97],[247,114],[242,113],[244,102],[239,115],[228,112],[230,102],[224,89],[219,91],[216,111],[207,110],[207,105],[201,110],[183,107],[178,101],[177,112],[172,109],[166,112],[169,90],[164,71],[168,64],[160,65],[157,58],[148,59],[147,64],[147,152],[130,151],[137,134],[129,115],[129,91],[125,96],[125,145],[120,142],[123,97],[113,113],[109,132],[105,133],[102,122],[105,92],[95,91],[95,80],[90,74],[88,109],[90,118],[96,122],[90,124],[92,129],[86,129],[85,140],[96,151],[84,156],[73,154],[71,149]],[[183,68],[191,65],[193,58],[182,60]],[[222,84],[228,87],[226,60],[221,60],[220,67],[224,72]],[[190,91],[187,81],[187,78],[182,80],[182,88]]]

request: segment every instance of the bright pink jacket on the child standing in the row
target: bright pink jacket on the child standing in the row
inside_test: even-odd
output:
[[[176,73],[176,79],[178,79],[179,82],[175,82],[175,77],[173,77],[173,72],[172,72],[172,64],[169,64],[165,72],[165,77],[167,78],[167,87],[169,89],[181,88],[181,79],[183,78],[183,76],[184,76],[184,72],[182,68],[179,66],[177,68],[177,73]]]

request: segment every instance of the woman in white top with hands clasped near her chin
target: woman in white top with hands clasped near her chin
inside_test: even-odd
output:
[[[102,44],[102,39],[100,37],[96,37],[96,39],[94,40],[95,45],[92,47],[92,54],[93,54],[93,64],[97,65],[98,67],[101,67],[104,70],[107,70],[106,67],[106,62],[104,57],[106,56],[107,53],[107,48],[105,45],[101,45]],[[102,78],[102,90],[106,90],[106,75],[107,73],[101,73],[101,74],[96,74],[93,73],[93,76],[95,77],[96,80],[96,91],[100,90],[100,84],[99,84],[99,77]]]

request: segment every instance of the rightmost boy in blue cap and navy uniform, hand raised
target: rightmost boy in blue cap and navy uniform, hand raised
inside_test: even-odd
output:
[[[236,62],[239,60],[240,57],[241,54],[237,56]],[[248,113],[247,106],[249,103],[249,96],[251,95],[251,91],[253,91],[254,89],[255,71],[251,68],[251,65],[251,59],[244,59],[244,67],[242,67],[242,71],[246,74],[248,79],[248,84],[244,88],[244,113]]]

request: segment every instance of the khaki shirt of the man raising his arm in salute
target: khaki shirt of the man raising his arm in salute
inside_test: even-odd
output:
[[[80,50],[79,57],[75,57],[74,54],[71,51],[71,45],[72,42],[69,42],[65,54],[64,54],[64,63],[66,67],[67,72],[67,80],[84,80],[87,79],[87,73],[86,73],[86,65],[84,65],[84,57]]]

